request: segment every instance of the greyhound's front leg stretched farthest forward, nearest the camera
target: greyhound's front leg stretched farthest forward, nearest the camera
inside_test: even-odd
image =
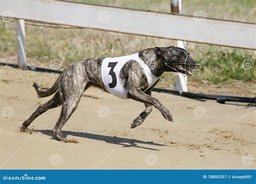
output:
[[[169,112],[169,110],[166,109],[164,105],[161,104],[156,98],[145,94],[139,88],[134,88],[134,89],[130,88],[129,90],[127,90],[127,97],[140,102],[152,104],[155,108],[157,108],[161,112],[161,114],[164,116],[165,119],[173,122],[172,115]]]

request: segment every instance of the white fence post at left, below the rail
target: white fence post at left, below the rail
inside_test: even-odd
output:
[[[22,19],[16,20],[16,41],[18,67],[26,68],[25,23]]]

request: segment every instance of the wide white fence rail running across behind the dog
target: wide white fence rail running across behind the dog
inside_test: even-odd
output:
[[[256,24],[58,1],[1,0],[0,15],[202,44],[256,49]]]

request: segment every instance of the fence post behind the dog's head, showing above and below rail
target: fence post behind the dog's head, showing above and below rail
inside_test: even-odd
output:
[[[181,13],[181,0],[171,0],[171,12]],[[177,41],[177,46],[186,49],[185,41]],[[174,77],[174,90],[187,91],[187,77],[184,77],[180,73],[173,73]]]

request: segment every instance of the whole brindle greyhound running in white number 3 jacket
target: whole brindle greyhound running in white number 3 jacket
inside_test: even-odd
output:
[[[26,131],[31,122],[45,111],[62,105],[57,124],[52,130],[57,140],[75,143],[62,136],[62,128],[76,110],[80,97],[90,86],[96,86],[120,98],[131,98],[143,102],[145,110],[134,119],[131,128],[136,128],[152,111],[152,105],[165,119],[173,122],[172,115],[156,98],[151,96],[151,89],[164,72],[179,72],[190,76],[199,64],[190,53],[179,47],[147,48],[139,53],[119,58],[92,58],[78,61],[66,67],[53,86],[43,91],[34,83],[38,97],[55,94],[51,100],[39,105],[35,112],[22,124],[21,131]]]

